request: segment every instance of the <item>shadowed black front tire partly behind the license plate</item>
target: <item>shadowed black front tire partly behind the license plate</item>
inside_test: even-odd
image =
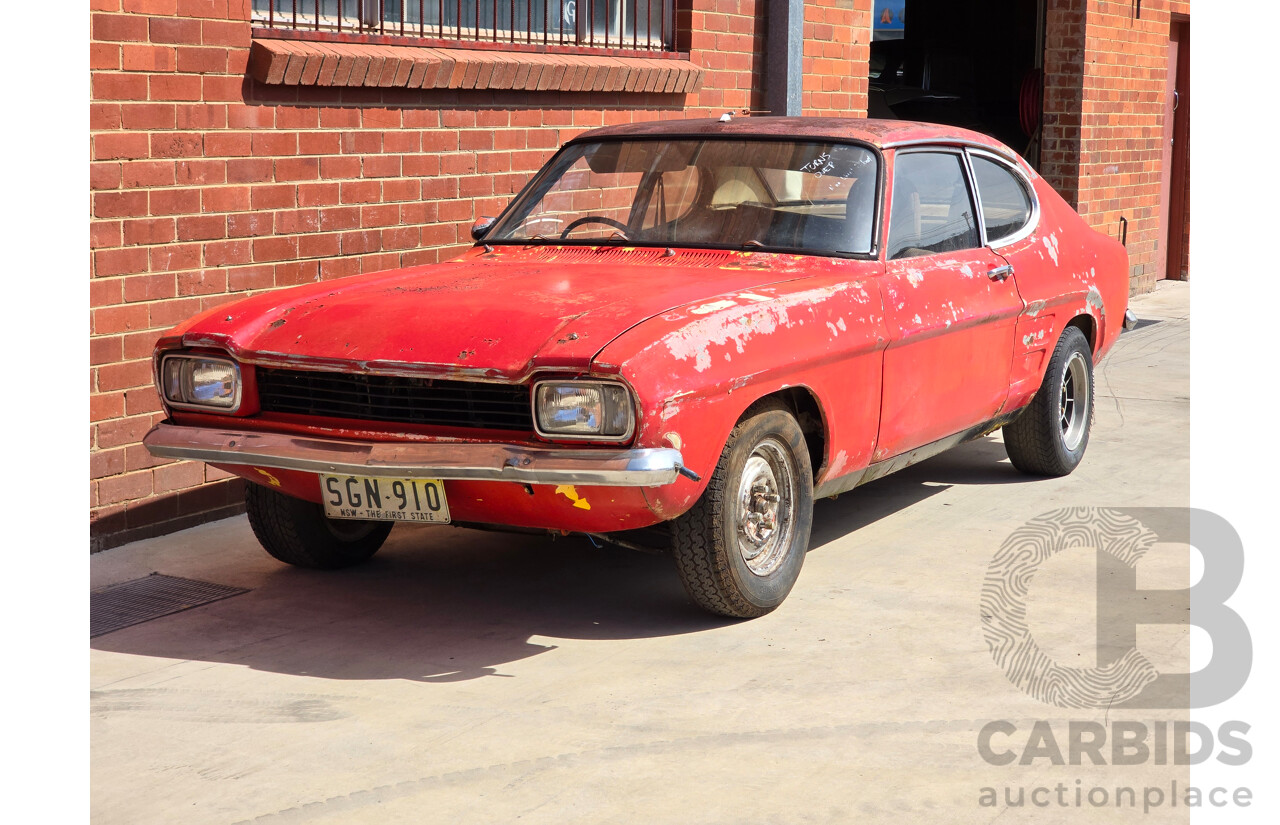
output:
[[[390,522],[328,518],[324,508],[262,485],[244,491],[250,527],[273,558],[319,570],[367,562],[392,531]]]

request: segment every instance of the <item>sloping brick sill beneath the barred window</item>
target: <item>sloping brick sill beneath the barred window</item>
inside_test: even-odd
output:
[[[250,75],[271,86],[686,95],[689,60],[253,38]]]

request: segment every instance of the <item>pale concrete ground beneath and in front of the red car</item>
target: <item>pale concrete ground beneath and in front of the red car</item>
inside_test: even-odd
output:
[[[1068,720],[1175,718],[1041,703],[979,617],[1029,518],[1188,504],[1189,289],[1133,308],[1155,322],[1098,370],[1074,475],[1020,476],[997,434],[820,501],[796,588],[751,622],[695,610],[666,558],[577,537],[401,526],[370,564],[316,573],[271,560],[239,517],[97,554],[95,588],[160,572],[250,592],[92,640],[93,820],[1129,820],[1075,789],[1137,787],[1140,810],[1187,767],[992,766],[977,741],[1010,720],[995,744],[1018,751],[1043,719],[1066,753]],[[1093,576],[1092,553],[1064,551],[1029,596],[1041,647],[1071,666],[1094,664]],[[1139,568],[1142,587],[1187,577],[1185,547]],[[1187,636],[1148,629],[1156,668],[1185,672]],[[1065,807],[979,805],[1057,783]]]

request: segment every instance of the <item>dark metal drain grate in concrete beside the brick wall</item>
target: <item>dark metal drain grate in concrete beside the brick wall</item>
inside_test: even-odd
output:
[[[243,587],[197,582],[152,573],[146,578],[95,590],[88,595],[88,636],[93,638],[133,624],[180,613],[211,601],[247,593]]]

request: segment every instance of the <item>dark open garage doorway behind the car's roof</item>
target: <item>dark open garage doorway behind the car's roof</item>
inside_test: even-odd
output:
[[[868,116],[983,132],[1039,168],[1044,0],[876,0]]]

